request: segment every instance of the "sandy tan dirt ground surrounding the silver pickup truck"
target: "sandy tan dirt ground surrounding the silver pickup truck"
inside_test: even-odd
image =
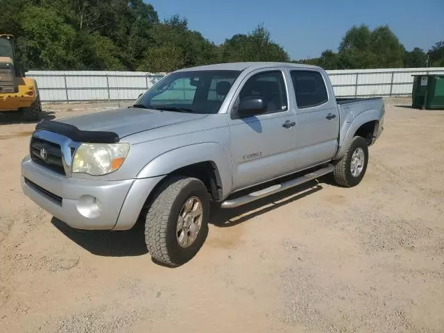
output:
[[[154,264],[139,228],[73,230],[28,200],[35,125],[0,117],[0,332],[444,332],[444,111],[409,104],[386,100],[359,186],[214,212],[180,268]]]

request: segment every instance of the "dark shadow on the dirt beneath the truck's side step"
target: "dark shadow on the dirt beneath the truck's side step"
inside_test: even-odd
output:
[[[321,191],[321,189],[323,189],[323,187],[319,182],[312,180],[311,182],[306,182],[297,187],[284,190],[272,196],[266,196],[236,208],[225,209],[221,208],[220,205],[214,204],[210,216],[210,223],[218,228],[232,227],[240,223],[245,223],[255,216],[271,212],[283,205],[305,198],[305,196]]]

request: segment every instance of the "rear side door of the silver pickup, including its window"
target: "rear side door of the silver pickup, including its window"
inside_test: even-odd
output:
[[[321,72],[295,69],[290,70],[290,76],[298,119],[296,169],[304,169],[326,162],[336,153],[339,110],[333,92],[327,90],[327,78]]]

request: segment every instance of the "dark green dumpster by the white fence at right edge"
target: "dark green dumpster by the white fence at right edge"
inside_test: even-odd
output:
[[[411,107],[444,109],[444,75],[413,75]]]

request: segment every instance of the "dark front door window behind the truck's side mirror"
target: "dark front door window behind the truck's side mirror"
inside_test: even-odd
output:
[[[287,110],[287,92],[281,71],[266,71],[247,80],[239,94],[239,101],[250,96],[260,96],[267,104],[266,113]]]

